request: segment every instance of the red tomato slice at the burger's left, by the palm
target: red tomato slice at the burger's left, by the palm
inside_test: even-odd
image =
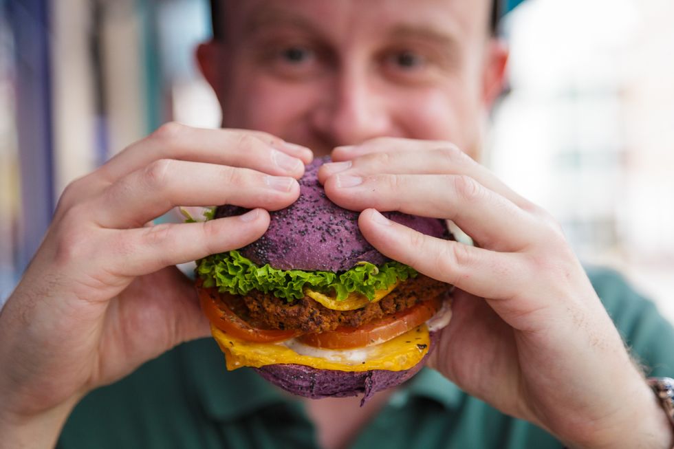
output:
[[[301,331],[295,329],[281,331],[280,329],[258,329],[257,327],[252,327],[248,322],[239,318],[220,299],[220,296],[228,295],[228,293],[220,293],[215,288],[202,288],[201,281],[197,282],[197,291],[199,292],[199,302],[202,305],[202,310],[208,316],[208,320],[215,327],[230,334],[232,337],[241,338],[241,340],[249,342],[271,343],[288,340],[301,333]]]

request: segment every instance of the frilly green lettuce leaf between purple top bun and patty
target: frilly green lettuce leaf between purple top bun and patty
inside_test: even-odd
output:
[[[276,270],[269,264],[259,267],[238,251],[213,254],[197,261],[197,276],[204,287],[218,287],[220,292],[248,294],[252,289],[285,298],[289,303],[304,297],[305,287],[318,292],[335,292],[343,300],[359,292],[372,300],[377,290],[388,289],[396,281],[417,276],[410,266],[387,262],[381,266],[360,262],[342,273],[303,270]]]

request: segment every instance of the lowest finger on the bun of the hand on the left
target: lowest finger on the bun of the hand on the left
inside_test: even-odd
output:
[[[262,237],[269,214],[254,209],[237,217],[202,223],[168,223],[111,231],[106,270],[117,276],[142,276],[169,265],[195,261],[210,254],[241,248]]]

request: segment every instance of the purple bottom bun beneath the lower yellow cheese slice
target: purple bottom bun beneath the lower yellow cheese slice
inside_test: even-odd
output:
[[[405,382],[426,363],[426,358],[435,349],[437,332],[431,332],[431,347],[419,363],[403,371],[374,369],[370,371],[338,371],[316,369],[298,364],[273,364],[256,368],[265,380],[294,395],[320,399],[321,397],[347,397],[364,393],[363,406],[374,393]]]

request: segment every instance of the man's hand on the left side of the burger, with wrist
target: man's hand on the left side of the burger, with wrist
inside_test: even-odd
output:
[[[0,446],[53,443],[87,391],[207,336],[195,289],[173,265],[261,237],[266,210],[297,199],[311,159],[265,133],[166,124],[70,184],[0,314]],[[214,204],[253,210],[145,225],[174,206]]]

